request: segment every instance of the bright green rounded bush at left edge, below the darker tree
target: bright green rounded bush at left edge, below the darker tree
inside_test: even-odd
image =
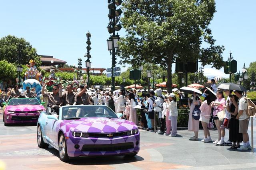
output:
[[[8,61],[0,61],[0,77],[1,80],[8,81],[14,80],[17,76],[16,66]]]

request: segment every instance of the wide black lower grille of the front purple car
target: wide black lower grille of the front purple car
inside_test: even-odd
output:
[[[133,142],[106,144],[106,145],[84,145],[82,152],[100,152],[100,151],[114,151],[114,150],[126,150],[134,148]]]

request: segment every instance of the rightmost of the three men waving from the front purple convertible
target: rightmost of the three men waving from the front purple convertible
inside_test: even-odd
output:
[[[81,91],[75,95],[76,105],[89,105],[90,104],[90,98],[89,98],[89,94],[86,92],[87,91],[86,87],[87,87],[87,85],[86,86],[84,84],[80,85]]]

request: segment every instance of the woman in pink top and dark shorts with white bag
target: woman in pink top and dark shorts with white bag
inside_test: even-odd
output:
[[[221,129],[220,126],[222,124],[223,118],[224,118],[224,106],[226,106],[226,100],[223,95],[223,91],[218,89],[216,93],[216,100],[212,102],[211,106],[214,108],[213,109],[213,119],[214,123],[217,127],[218,130],[218,139],[213,142],[214,145],[216,146],[223,146],[224,145],[224,137],[221,138]]]

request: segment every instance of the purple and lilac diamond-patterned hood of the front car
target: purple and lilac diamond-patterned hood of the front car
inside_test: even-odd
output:
[[[118,133],[138,127],[125,119],[108,119],[106,117],[88,117],[75,120],[63,120],[64,131],[72,130],[85,133]]]

